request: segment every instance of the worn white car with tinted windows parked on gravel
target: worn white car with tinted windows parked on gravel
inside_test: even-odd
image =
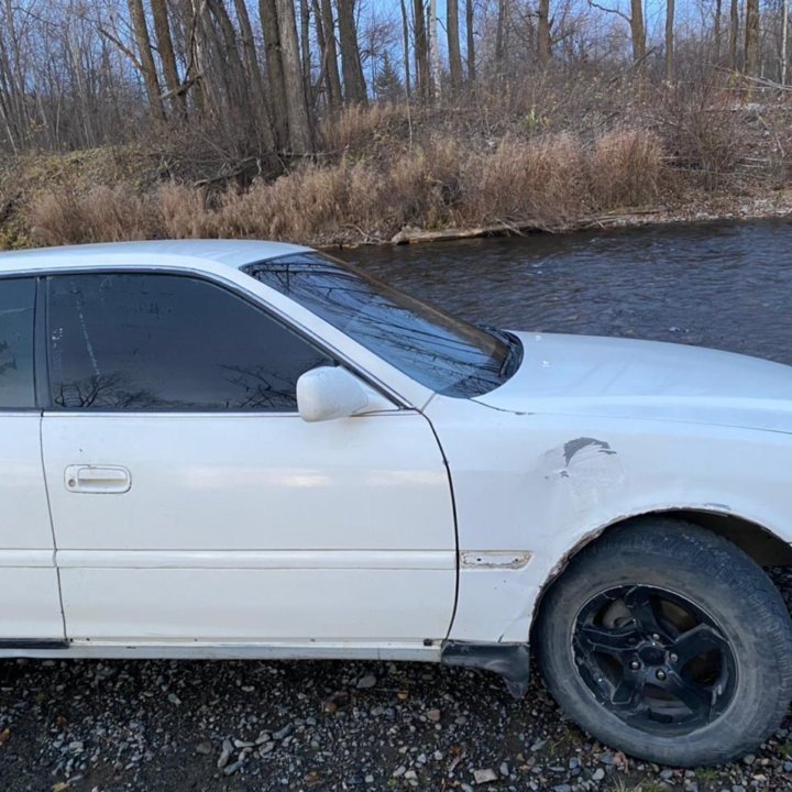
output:
[[[792,369],[473,327],[307,248],[0,255],[0,657],[376,658],[679,766],[792,698]]]

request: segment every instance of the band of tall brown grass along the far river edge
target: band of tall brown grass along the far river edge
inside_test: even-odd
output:
[[[305,163],[212,201],[202,188],[176,184],[146,194],[131,184],[55,189],[32,202],[29,220],[43,244],[157,237],[322,243],[385,240],[405,226],[560,229],[651,201],[662,169],[658,139],[641,130],[588,144],[568,133],[484,146],[438,134],[387,156]]]

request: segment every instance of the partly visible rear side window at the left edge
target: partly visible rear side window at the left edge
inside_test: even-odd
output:
[[[35,407],[33,316],[35,280],[0,280],[0,409]]]

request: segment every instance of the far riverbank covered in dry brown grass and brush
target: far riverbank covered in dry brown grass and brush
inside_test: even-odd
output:
[[[792,103],[734,91],[600,95],[581,117],[530,107],[351,108],[322,154],[196,164],[148,141],[0,161],[0,248],[231,237],[320,246],[564,232],[792,213]],[[676,102],[675,105],[672,102]],[[686,102],[686,103],[685,103]]]

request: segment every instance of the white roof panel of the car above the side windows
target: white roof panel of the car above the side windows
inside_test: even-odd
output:
[[[146,242],[105,242],[99,244],[37,248],[0,253],[0,273],[53,270],[59,266],[184,267],[220,264],[239,270],[245,264],[275,258],[310,248],[257,240],[157,240]]]

